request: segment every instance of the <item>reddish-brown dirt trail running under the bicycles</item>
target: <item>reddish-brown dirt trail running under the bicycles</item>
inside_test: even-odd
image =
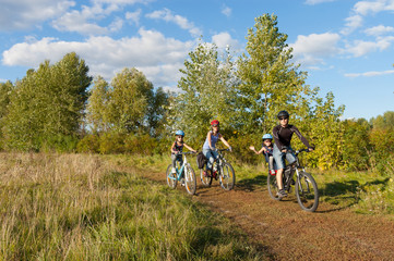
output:
[[[165,181],[164,173],[150,177]],[[225,191],[215,181],[202,187],[198,177],[196,192],[193,199],[231,219],[273,260],[394,260],[394,221],[387,217],[327,203],[309,213],[294,194],[282,202],[271,199],[266,186],[238,184]]]

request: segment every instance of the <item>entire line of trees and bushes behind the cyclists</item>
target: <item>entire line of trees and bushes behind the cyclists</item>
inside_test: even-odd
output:
[[[394,112],[367,121],[341,120],[334,95],[319,96],[306,72],[291,62],[277,17],[264,14],[248,30],[244,52],[200,42],[184,61],[177,87],[154,87],[143,72],[124,69],[108,83],[88,75],[76,53],[45,61],[26,76],[0,84],[0,148],[21,151],[163,153],[174,132],[200,148],[213,119],[239,161],[259,160],[250,145],[277,124],[280,110],[317,147],[309,164],[321,169],[386,170],[393,160]],[[294,147],[301,144],[294,139]],[[261,160],[261,159],[260,159]]]

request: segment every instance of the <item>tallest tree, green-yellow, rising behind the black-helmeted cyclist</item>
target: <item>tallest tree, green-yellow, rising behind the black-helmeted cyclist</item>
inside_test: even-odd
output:
[[[276,114],[288,110],[292,115],[308,115],[311,90],[305,85],[307,74],[290,62],[291,48],[287,35],[278,32],[275,15],[255,18],[248,32],[247,52],[238,60],[238,121],[243,133],[268,133],[276,124]]]

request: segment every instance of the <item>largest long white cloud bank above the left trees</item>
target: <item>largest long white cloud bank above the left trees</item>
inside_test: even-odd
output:
[[[112,39],[108,36],[89,37],[86,41],[62,41],[43,38],[16,44],[4,51],[5,65],[37,67],[45,60],[59,61],[75,51],[86,61],[92,75],[110,79],[123,67],[141,70],[155,86],[166,86],[179,79],[179,69],[193,41],[166,38],[163,34],[141,28],[139,36]]]

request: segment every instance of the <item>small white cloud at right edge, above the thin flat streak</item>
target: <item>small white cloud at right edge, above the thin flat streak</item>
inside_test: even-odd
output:
[[[393,41],[394,37],[392,36],[381,37],[378,41],[355,40],[351,45],[346,46],[346,52],[354,57],[362,57],[370,52],[386,50]]]

